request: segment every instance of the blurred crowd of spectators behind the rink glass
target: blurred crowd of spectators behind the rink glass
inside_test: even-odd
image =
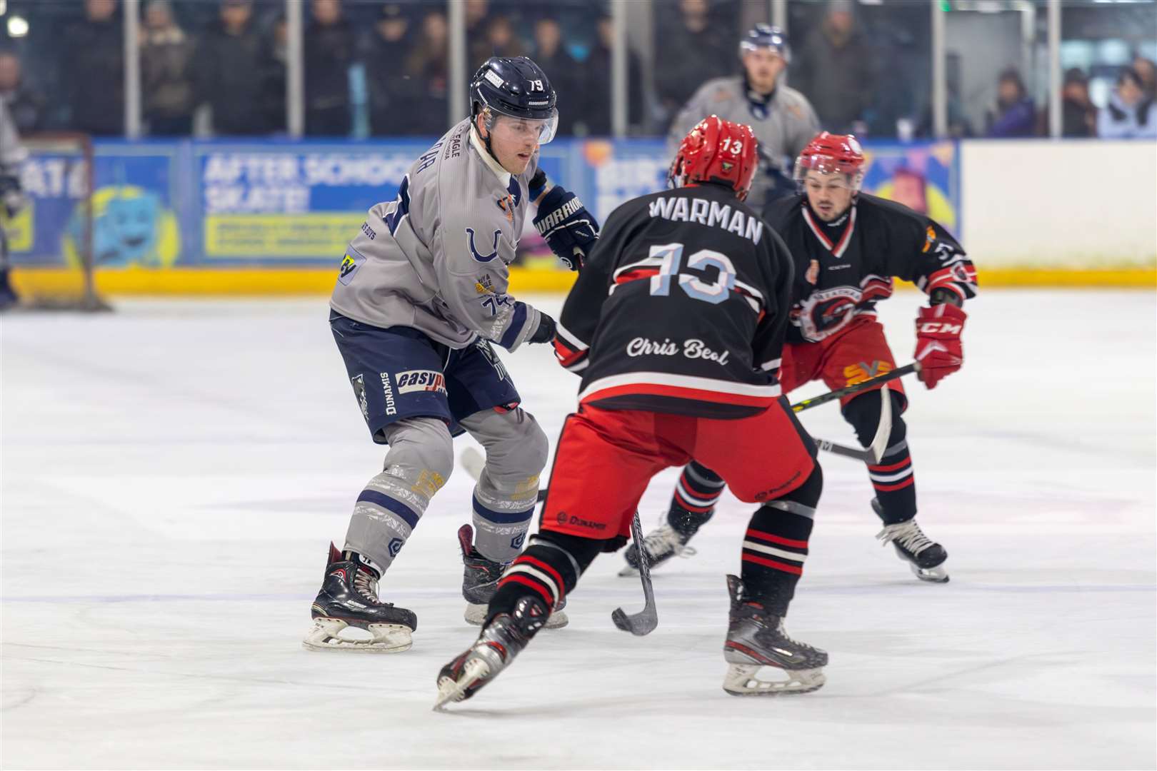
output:
[[[559,94],[560,135],[611,133],[613,25],[605,0],[464,3],[467,68],[530,55]],[[632,35],[627,123],[662,135],[703,81],[740,71],[737,43],[766,0],[654,0],[644,53]],[[1042,6],[1041,6],[1042,7]],[[787,5],[788,82],[825,128],[861,136],[931,134],[930,14],[923,2]],[[309,0],[304,113],[309,136],[436,136],[449,125],[447,0]],[[23,14],[27,31],[10,22]],[[117,0],[9,0],[0,99],[24,134],[124,133],[124,25]],[[1064,136],[1157,136],[1157,3],[1064,6]],[[1044,14],[1040,14],[1044,18]],[[2,21],[2,17],[0,17]],[[1040,35],[1042,39],[1042,35]],[[1084,39],[1088,38],[1088,39]],[[286,131],[282,0],[142,0],[140,73],[148,136],[252,136]],[[949,133],[1047,135],[1046,69],[1009,62],[986,88],[958,75],[949,46]],[[1039,57],[1038,57],[1039,58]],[[1062,59],[1063,61],[1063,59]],[[1025,72],[1025,69],[1029,72]],[[985,109],[967,109],[985,101]]]

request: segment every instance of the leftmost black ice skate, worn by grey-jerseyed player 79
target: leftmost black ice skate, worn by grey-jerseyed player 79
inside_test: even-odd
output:
[[[399,653],[412,645],[411,635],[418,628],[412,610],[396,608],[377,599],[381,570],[354,551],[338,551],[330,544],[322,591],[314,600],[310,615],[314,628],[302,642],[311,651],[358,651],[363,653]],[[341,630],[353,627],[370,637],[341,637]]]

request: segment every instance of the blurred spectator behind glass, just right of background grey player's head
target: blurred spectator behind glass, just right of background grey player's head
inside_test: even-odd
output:
[[[830,2],[791,67],[791,86],[811,101],[824,128],[837,134],[863,132],[860,124],[868,118],[875,90],[871,51],[853,9],[849,0]]]

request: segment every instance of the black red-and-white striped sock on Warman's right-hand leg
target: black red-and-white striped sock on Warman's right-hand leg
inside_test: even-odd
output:
[[[799,488],[769,501],[751,517],[743,539],[743,586],[746,596],[782,616],[808,558],[808,539],[824,487],[817,465]]]

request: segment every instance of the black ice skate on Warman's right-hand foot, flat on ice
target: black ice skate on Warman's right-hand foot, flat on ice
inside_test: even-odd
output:
[[[738,577],[728,576],[727,588],[731,594],[731,613],[723,658],[730,666],[723,677],[723,690],[732,696],[776,696],[820,688],[825,682],[823,668],[827,666],[827,653],[788,637],[782,616],[744,599]],[[782,669],[787,679],[760,680],[756,676],[760,667]]]

